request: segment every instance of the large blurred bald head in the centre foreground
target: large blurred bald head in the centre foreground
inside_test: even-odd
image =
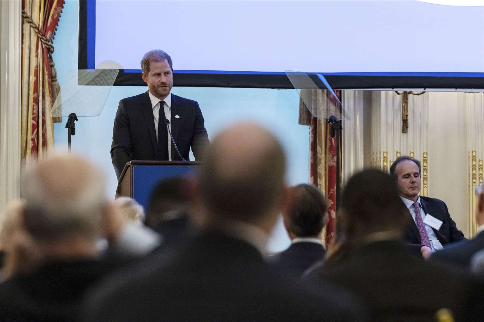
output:
[[[243,123],[221,132],[202,167],[200,190],[210,216],[253,222],[284,198],[286,157],[272,133]]]

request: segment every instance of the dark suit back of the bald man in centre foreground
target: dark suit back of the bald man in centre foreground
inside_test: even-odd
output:
[[[85,321],[357,320],[337,291],[306,292],[252,245],[218,234],[199,236],[159,269],[107,287],[90,296]]]

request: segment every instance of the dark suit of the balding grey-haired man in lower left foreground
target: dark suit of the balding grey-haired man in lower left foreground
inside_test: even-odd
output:
[[[77,321],[84,292],[133,260],[50,262],[33,273],[15,275],[0,284],[0,321]]]

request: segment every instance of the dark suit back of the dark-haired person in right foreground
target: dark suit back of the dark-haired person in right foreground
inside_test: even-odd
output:
[[[372,321],[433,321],[440,308],[465,321],[476,303],[468,276],[414,258],[394,241],[367,245],[339,264],[318,268],[315,276],[359,295]]]

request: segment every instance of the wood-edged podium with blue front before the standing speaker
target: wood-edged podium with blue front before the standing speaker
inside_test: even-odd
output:
[[[129,161],[124,166],[116,197],[132,197],[146,211],[151,190],[161,179],[197,173],[201,161]]]

